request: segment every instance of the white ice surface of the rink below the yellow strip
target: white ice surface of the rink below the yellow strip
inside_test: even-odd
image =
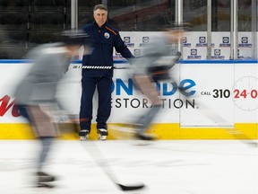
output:
[[[107,163],[124,185],[144,183],[134,194],[257,194],[257,147],[234,141],[57,140],[46,172],[55,174],[55,189],[31,187],[39,142],[0,141],[1,194],[124,193],[96,163]]]

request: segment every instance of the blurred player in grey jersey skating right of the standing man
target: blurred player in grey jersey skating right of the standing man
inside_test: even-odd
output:
[[[155,139],[153,135],[146,133],[162,105],[154,83],[171,81],[169,70],[181,57],[177,45],[185,31],[184,26],[169,25],[165,30],[162,35],[150,37],[150,43],[142,49],[142,56],[136,57],[133,62],[133,84],[152,105],[150,110],[133,121],[135,137],[142,140]]]

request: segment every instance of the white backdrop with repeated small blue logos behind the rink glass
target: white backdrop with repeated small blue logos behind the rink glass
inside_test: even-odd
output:
[[[121,32],[121,37],[134,56],[141,56],[142,48],[148,42],[162,32],[150,31],[130,31]],[[211,59],[230,59],[231,38],[229,31],[211,32]],[[251,59],[253,36],[252,32],[238,32],[238,59]],[[186,31],[182,39],[183,59],[198,60],[207,58],[207,32],[206,31]],[[119,58],[119,54],[114,52],[114,56]]]

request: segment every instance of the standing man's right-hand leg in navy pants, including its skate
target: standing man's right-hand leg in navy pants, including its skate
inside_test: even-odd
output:
[[[99,108],[97,114],[97,129],[99,140],[107,138],[107,119],[111,112],[111,84],[112,78],[101,77],[98,83]]]

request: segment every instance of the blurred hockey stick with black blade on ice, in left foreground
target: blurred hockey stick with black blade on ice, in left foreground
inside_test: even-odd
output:
[[[73,131],[77,132],[78,131],[78,124],[74,122],[73,119]],[[89,141],[89,140],[88,140]],[[85,142],[80,142],[81,144],[85,144]],[[109,178],[110,181],[112,181],[120,190],[123,191],[130,191],[130,190],[141,190],[145,187],[144,184],[140,183],[137,185],[124,185],[119,183],[119,181],[116,179],[116,175],[113,171],[111,171],[110,167],[107,165],[107,163],[103,162],[104,156],[101,154],[99,148],[97,145],[93,145],[94,142],[90,141],[91,146],[86,146],[82,145],[83,148],[90,154],[90,156],[93,158],[93,160],[98,163],[99,167],[102,169],[103,172],[106,173],[107,177]],[[91,150],[90,150],[91,147]]]

